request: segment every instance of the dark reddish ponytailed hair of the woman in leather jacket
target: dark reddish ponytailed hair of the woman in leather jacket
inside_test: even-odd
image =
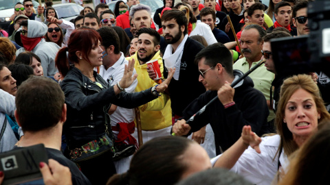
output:
[[[78,56],[76,51],[81,51],[82,58],[91,63],[88,58],[93,45],[98,44],[98,40],[102,42],[102,38],[94,29],[76,29],[72,32],[67,47],[61,48],[55,58],[55,64],[58,71],[65,77],[69,71],[69,61],[78,63]],[[67,52],[68,51],[68,56]]]

